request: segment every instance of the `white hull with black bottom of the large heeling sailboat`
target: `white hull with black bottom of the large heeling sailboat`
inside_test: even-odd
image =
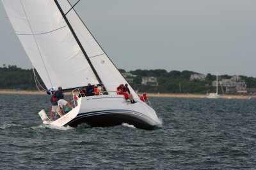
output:
[[[44,121],[44,124],[58,127],[86,123],[92,127],[108,127],[122,123],[132,124],[140,129],[154,129],[161,122],[156,111],[150,106],[138,101],[131,104],[120,95],[102,95],[81,97],[77,106],[54,122]]]

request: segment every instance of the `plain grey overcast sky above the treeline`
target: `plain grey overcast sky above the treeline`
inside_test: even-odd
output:
[[[76,11],[116,67],[126,71],[256,77],[255,7],[255,0],[81,0]],[[3,64],[31,68],[0,3]]]

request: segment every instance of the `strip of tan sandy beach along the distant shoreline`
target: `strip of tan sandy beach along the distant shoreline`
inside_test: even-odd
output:
[[[0,94],[31,94],[47,95],[45,92],[35,90],[0,90]],[[139,94],[141,96],[141,94]],[[167,94],[167,93],[147,93],[148,97],[174,97],[174,98],[205,98],[205,94]],[[224,99],[248,99],[248,96],[223,95]]]

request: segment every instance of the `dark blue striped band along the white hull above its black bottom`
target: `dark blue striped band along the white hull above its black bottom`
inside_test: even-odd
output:
[[[76,118],[72,119],[70,122],[68,122],[65,125],[72,124],[72,123],[74,123],[80,119],[86,118],[86,117],[93,117],[93,116],[98,116],[98,115],[108,115],[108,114],[122,115],[122,114],[127,114],[127,113],[129,115],[138,115],[138,116],[143,117],[146,120],[148,120],[148,122],[152,122],[152,124],[157,125],[157,122],[152,120],[152,118],[149,118],[140,112],[132,111],[132,110],[101,110],[101,111],[90,111],[90,112],[86,112],[86,113],[79,113]],[[139,118],[134,117],[134,119],[139,119]],[[141,120],[141,121],[145,122],[145,120]]]

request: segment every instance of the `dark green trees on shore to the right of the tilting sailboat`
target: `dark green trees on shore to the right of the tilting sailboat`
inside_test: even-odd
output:
[[[120,69],[120,72],[125,72],[124,69]],[[212,87],[212,81],[216,80],[216,75],[207,74],[204,81],[193,80],[189,78],[191,74],[198,74],[193,71],[170,71],[167,72],[164,69],[154,70],[141,70],[130,71],[130,73],[136,75],[134,83],[131,86],[139,92],[159,92],[159,93],[201,93],[216,92],[216,87]],[[141,85],[143,76],[156,76],[159,83],[158,86]],[[230,79],[232,76],[227,74],[219,76],[220,80]],[[129,78],[129,77],[128,77]],[[256,78],[241,76],[246,82],[246,87],[256,88]],[[225,87],[221,88],[220,91],[225,92]]]

